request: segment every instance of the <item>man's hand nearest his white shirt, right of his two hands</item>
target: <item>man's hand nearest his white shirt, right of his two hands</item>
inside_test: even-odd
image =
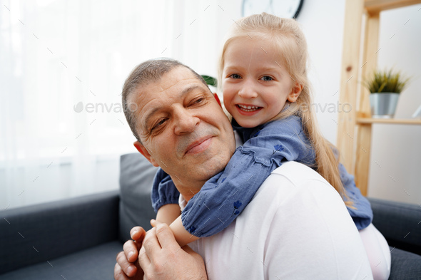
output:
[[[202,257],[188,246],[180,248],[168,224],[148,231],[139,262],[144,279],[208,279]]]

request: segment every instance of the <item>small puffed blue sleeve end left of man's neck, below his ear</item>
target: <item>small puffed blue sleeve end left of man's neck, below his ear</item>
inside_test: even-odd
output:
[[[180,197],[180,192],[178,192],[170,175],[159,168],[155,178],[153,178],[151,192],[153,209],[158,212],[158,209],[165,204],[178,204],[178,197]]]

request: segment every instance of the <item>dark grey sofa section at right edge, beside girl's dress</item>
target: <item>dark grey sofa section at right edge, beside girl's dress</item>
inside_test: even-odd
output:
[[[390,247],[421,255],[421,207],[417,204],[368,198],[374,218],[372,224]]]

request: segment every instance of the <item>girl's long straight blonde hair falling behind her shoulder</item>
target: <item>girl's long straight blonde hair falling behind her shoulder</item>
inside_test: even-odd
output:
[[[301,118],[303,130],[315,150],[315,162],[318,173],[330,185],[333,185],[335,190],[343,197],[345,204],[352,207],[352,201],[346,194],[343,183],[340,180],[338,169],[339,155],[335,157],[333,152],[337,150],[320,133],[317,118],[311,108],[313,98],[310,81],[307,76],[307,43],[298,22],[294,19],[281,19],[278,16],[266,13],[247,16],[235,21],[223,45],[218,63],[218,87],[220,90],[222,90],[225,51],[229,44],[238,38],[251,38],[254,40],[264,38],[273,42],[279,51],[277,56],[275,56],[277,59],[276,63],[286,68],[294,81],[293,86],[295,83],[303,85],[303,90],[295,103],[290,103],[287,100],[285,106],[288,106],[288,109],[283,110],[277,116],[277,119],[288,118],[290,115],[297,115]]]

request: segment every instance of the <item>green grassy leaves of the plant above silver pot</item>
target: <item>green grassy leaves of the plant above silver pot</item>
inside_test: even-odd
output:
[[[374,71],[372,78],[364,81],[370,93],[401,93],[410,78],[403,78],[400,71]]]

